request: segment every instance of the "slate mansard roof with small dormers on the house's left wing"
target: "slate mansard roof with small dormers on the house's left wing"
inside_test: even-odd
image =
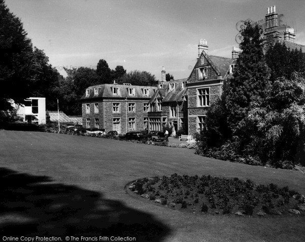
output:
[[[113,94],[112,88],[118,87],[119,88],[119,95]],[[94,94],[94,89],[99,88],[99,92],[97,95]],[[135,89],[135,95],[131,96],[128,93],[128,88]],[[143,89],[149,89],[149,95],[145,96],[143,93]],[[82,95],[80,98],[81,101],[92,99],[92,98],[102,98],[102,97],[131,97],[131,98],[150,98],[154,95],[154,90],[157,90],[157,87],[152,86],[136,86],[136,85],[118,85],[118,84],[100,84],[95,86],[90,86],[86,89],[90,90],[89,96],[86,96],[86,93]]]

